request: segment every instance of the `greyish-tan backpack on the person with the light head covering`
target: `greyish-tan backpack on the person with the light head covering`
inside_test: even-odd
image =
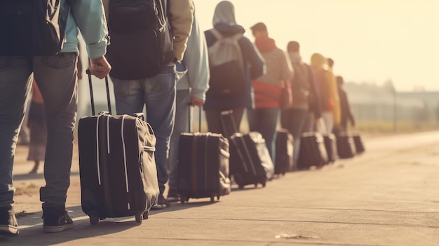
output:
[[[243,95],[245,70],[241,46],[238,40],[243,34],[222,36],[211,29],[217,41],[208,47],[210,80],[208,95],[213,97],[235,97]]]

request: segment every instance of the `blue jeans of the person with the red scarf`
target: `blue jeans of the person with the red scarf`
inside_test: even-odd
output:
[[[273,163],[276,157],[276,126],[278,125],[279,111],[278,108],[257,108],[247,111],[250,131],[260,132],[264,137]]]

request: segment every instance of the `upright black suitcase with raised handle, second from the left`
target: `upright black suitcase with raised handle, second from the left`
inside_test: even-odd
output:
[[[198,129],[201,130],[201,108],[199,119]],[[179,140],[177,171],[177,192],[181,202],[187,202],[189,198],[210,198],[213,202],[215,196],[219,200],[220,196],[229,194],[229,156],[229,140],[221,134],[183,132]]]

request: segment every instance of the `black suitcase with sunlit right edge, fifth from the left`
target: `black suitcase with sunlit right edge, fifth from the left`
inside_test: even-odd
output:
[[[327,152],[322,135],[318,132],[304,132],[300,139],[297,169],[306,170],[311,166],[320,168],[327,163]]]

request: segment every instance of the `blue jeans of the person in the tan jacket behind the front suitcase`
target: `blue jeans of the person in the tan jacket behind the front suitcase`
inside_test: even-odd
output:
[[[156,136],[158,188],[165,191],[168,182],[169,139],[174,128],[175,117],[175,65],[165,67],[151,78],[120,80],[112,78],[117,114],[140,113],[146,107],[146,121]]]

